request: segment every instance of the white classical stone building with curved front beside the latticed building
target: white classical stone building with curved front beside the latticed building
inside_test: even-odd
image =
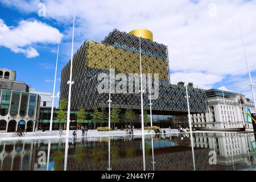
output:
[[[223,97],[224,96],[224,97]],[[193,114],[192,126],[204,128],[252,128],[247,122],[247,108],[255,113],[254,104],[243,94],[217,89],[207,90],[208,113]],[[251,118],[248,118],[251,122]]]

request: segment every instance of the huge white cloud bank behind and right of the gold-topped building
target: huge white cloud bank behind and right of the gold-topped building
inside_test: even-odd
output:
[[[113,28],[129,32],[148,28],[154,40],[169,49],[171,81],[183,80],[187,70],[188,81],[202,88],[226,82],[229,77],[247,73],[238,23],[241,23],[249,66],[256,70],[256,1],[245,0],[188,0],[148,1],[129,0],[117,3],[106,1],[43,1],[48,19],[67,27],[65,37],[72,36],[72,18],[76,13],[75,42],[85,39],[102,40]],[[7,1],[2,3],[25,13],[37,13],[39,1]],[[217,6],[216,17],[209,16],[209,4]],[[56,11],[57,9],[57,11]],[[78,43],[77,43],[78,44]],[[79,43],[81,44],[81,43]],[[67,46],[69,44],[67,43]],[[76,47],[76,44],[75,44]],[[68,46],[70,51],[70,46]],[[68,53],[68,51],[63,51]],[[68,53],[68,59],[70,53]],[[68,61],[67,59],[67,61]],[[184,60],[184,61],[183,61]],[[245,81],[245,80],[241,80]],[[254,79],[255,81],[255,79]],[[241,82],[243,85],[246,82]],[[229,89],[236,82],[230,82]],[[241,90],[246,92],[247,89]]]

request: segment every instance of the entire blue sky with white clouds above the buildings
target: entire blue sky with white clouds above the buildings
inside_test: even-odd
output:
[[[39,3],[46,5],[46,16],[38,15]],[[76,12],[74,53],[86,39],[100,42],[114,28],[126,32],[148,28],[156,42],[168,46],[172,83],[192,81],[204,89],[222,84],[251,98],[238,23],[255,82],[255,9],[255,1],[242,0],[131,0],[122,4],[114,0],[1,0],[0,68],[15,70],[16,79],[31,88],[52,91],[60,45],[57,94],[61,68],[71,57]]]

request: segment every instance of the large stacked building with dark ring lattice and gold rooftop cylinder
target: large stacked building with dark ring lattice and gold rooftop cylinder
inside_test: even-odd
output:
[[[113,30],[101,43],[86,41],[82,44],[73,56],[72,81],[74,84],[72,85],[71,109],[82,108],[90,111],[94,107],[109,108],[109,93],[99,93],[97,89],[103,81],[109,82],[108,77],[105,80],[99,80],[99,77],[102,73],[109,76],[111,67],[115,71],[115,83],[111,83],[113,85],[111,87],[111,107],[121,109],[121,122],[117,123],[117,126],[125,126],[125,110],[133,109],[136,114],[133,124],[135,127],[140,127],[141,93],[135,92],[137,89],[135,86],[139,81],[128,82],[126,85],[122,79],[118,78],[118,73],[123,73],[122,76],[127,77],[129,74],[139,76],[140,52],[142,73],[147,75],[148,70],[152,73],[152,88],[158,88],[159,91],[158,98],[152,100],[154,125],[175,127],[180,122],[188,125],[185,87],[170,84],[168,48],[164,44],[154,42],[152,32],[144,29],[132,31],[129,34]],[[67,82],[69,81],[70,66],[71,61],[61,71],[60,99],[68,98]],[[156,81],[158,79],[155,74],[158,74],[159,81]],[[148,78],[143,78],[143,107],[149,114],[147,82]],[[131,92],[117,93],[115,92],[117,86],[120,86],[122,91],[130,90]],[[106,86],[106,89],[108,90],[109,87]],[[205,113],[208,108],[205,90],[190,86],[188,92],[191,113]],[[180,115],[179,118],[184,116],[185,119],[175,123],[174,116]],[[150,125],[150,123],[147,122],[146,125]]]

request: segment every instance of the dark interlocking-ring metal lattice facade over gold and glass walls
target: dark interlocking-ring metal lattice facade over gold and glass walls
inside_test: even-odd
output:
[[[150,72],[159,73],[160,78],[159,97],[152,100],[152,110],[187,112],[184,86],[170,84],[167,47],[141,39],[141,48],[143,73],[147,73],[150,66]],[[109,94],[97,92],[100,82],[97,78],[100,73],[109,74],[110,57],[111,67],[116,73],[139,73],[139,38],[113,30],[102,43],[88,41],[79,48],[73,57],[72,75],[75,84],[72,85],[72,109],[91,110],[93,107],[108,107]],[[69,72],[70,61],[61,71],[60,99],[68,98]],[[191,113],[205,113],[208,106],[205,90],[188,87],[188,92]],[[143,95],[145,109],[150,109],[148,102],[146,93]],[[112,94],[112,107],[141,109],[141,94]]]

